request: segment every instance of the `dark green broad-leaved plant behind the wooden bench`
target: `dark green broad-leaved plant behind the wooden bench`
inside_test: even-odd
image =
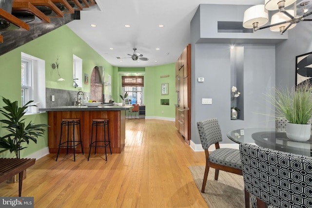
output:
[[[33,141],[37,144],[37,138],[42,136],[45,132],[43,127],[48,127],[46,124],[25,124],[23,115],[25,110],[33,101],[29,101],[23,107],[19,107],[18,101],[11,102],[9,99],[2,97],[6,106],[0,109],[0,113],[7,119],[2,119],[0,122],[7,124],[2,128],[6,129],[9,133],[0,137],[0,153],[4,151],[14,152],[17,158],[20,158],[20,151],[27,148],[23,147],[23,143],[29,144],[29,141]]]

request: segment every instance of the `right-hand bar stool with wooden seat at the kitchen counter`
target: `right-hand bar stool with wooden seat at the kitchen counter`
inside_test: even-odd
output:
[[[111,149],[111,142],[109,140],[109,126],[108,126],[108,121],[109,119],[107,118],[98,118],[98,119],[93,119],[92,120],[92,127],[91,127],[91,142],[90,142],[90,150],[89,150],[89,156],[88,156],[88,161],[90,158],[90,154],[91,154],[91,148],[94,147],[94,154],[96,154],[97,152],[97,147],[102,147],[105,148],[105,160],[107,161],[107,151],[106,151],[106,147],[109,146],[109,150],[112,154],[112,149]],[[104,135],[103,135],[103,139],[104,140],[98,140],[98,127],[103,127],[104,128]],[[93,129],[96,129],[96,140],[93,140]],[[107,140],[106,140],[106,128],[107,128]],[[98,145],[98,143],[102,144],[102,145]]]

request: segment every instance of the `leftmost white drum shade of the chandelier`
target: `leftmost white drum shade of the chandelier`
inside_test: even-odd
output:
[[[268,11],[264,4],[252,6],[244,12],[243,27],[254,28],[254,23],[258,22],[258,27],[265,25],[269,21]]]

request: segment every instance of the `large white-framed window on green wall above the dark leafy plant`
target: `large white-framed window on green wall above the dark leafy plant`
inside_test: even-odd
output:
[[[39,108],[45,108],[45,61],[21,53],[21,106],[33,100]],[[44,90],[42,90],[44,89]],[[27,113],[35,113],[28,108]],[[37,111],[36,111],[37,113]]]

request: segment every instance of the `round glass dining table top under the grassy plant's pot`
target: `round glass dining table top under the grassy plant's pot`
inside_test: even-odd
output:
[[[276,132],[274,128],[241,128],[227,133],[235,143],[250,143],[278,151],[312,156],[312,135],[308,141],[287,138],[286,132]]]

